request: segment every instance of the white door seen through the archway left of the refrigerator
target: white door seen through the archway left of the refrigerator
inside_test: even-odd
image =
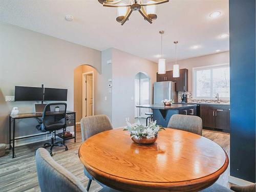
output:
[[[150,81],[148,78],[140,79],[140,104],[150,104]],[[148,111],[147,108],[140,108],[140,117],[148,117],[145,115]]]

